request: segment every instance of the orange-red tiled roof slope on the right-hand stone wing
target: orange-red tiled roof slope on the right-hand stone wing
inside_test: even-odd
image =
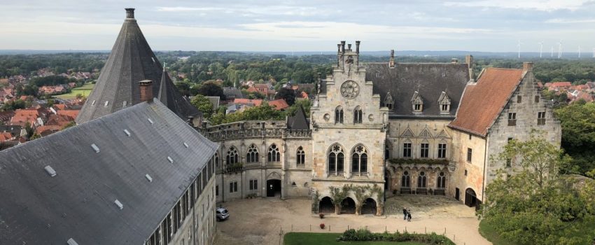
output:
[[[449,127],[485,137],[488,127],[498,118],[522,76],[521,69],[485,69],[477,83],[465,88],[461,107]]]

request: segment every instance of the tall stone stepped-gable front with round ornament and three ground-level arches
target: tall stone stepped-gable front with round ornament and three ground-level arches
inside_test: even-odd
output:
[[[331,188],[351,184],[384,190],[388,108],[380,107],[379,94],[373,94],[372,82],[365,80],[359,48],[360,41],[356,41],[355,50],[351,44],[345,47],[345,41],[337,44],[337,64],[331,75],[318,82],[318,94],[311,107],[312,187],[318,199],[332,199]],[[381,207],[384,195],[368,194]],[[358,206],[353,193],[348,197]],[[315,206],[313,203],[313,211],[317,211]]]

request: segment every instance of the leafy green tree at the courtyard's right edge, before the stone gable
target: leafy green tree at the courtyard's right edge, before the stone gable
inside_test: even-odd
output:
[[[489,183],[479,216],[515,244],[592,243],[595,234],[585,228],[595,216],[574,179],[559,174],[568,161],[562,154],[536,132],[510,141],[496,159],[512,160],[514,174],[501,171]]]

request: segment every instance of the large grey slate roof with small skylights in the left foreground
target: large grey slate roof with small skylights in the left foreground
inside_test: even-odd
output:
[[[144,244],[217,147],[155,100],[0,151],[0,244]]]

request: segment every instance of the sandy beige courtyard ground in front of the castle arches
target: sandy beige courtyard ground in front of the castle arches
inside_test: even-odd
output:
[[[403,195],[386,200],[386,216],[329,214],[324,219],[310,213],[310,200],[257,198],[225,202],[228,221],[218,222],[215,244],[281,244],[286,232],[343,232],[347,228],[367,227],[372,232],[436,232],[456,244],[491,244],[477,231],[475,209],[450,197]],[[412,221],[402,220],[402,207],[412,211]],[[319,228],[325,223],[325,230]]]

